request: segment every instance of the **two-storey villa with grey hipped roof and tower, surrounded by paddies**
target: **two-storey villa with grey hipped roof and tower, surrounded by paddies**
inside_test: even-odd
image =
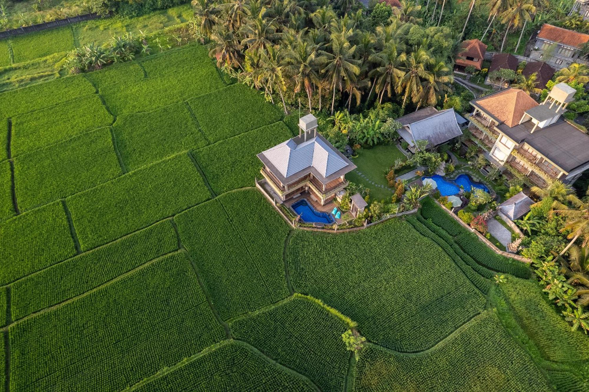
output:
[[[257,157],[264,165],[264,185],[279,202],[308,193],[318,204],[328,204],[348,185],[345,174],[356,168],[317,133],[317,118],[312,114],[299,119],[299,136]]]

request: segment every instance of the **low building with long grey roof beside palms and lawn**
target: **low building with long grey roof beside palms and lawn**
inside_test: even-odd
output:
[[[427,140],[429,147],[435,147],[462,136],[459,118],[462,117],[454,109],[438,111],[434,107],[427,107],[399,117],[397,121],[401,122],[403,128],[398,132],[412,151],[416,140]]]

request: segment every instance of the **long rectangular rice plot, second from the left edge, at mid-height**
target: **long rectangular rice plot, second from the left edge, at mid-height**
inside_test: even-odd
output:
[[[210,197],[187,154],[129,172],[67,198],[82,250],[193,207]]]

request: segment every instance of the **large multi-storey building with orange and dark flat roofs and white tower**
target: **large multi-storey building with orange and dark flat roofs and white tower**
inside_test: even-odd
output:
[[[559,83],[542,104],[515,88],[474,99],[469,129],[496,165],[533,184],[574,182],[589,168],[589,135],[561,117],[575,92]]]

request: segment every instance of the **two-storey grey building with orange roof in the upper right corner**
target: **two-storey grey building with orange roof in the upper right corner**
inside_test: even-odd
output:
[[[530,57],[547,62],[555,69],[567,68],[573,62],[589,64],[587,58],[581,57],[579,49],[587,41],[587,34],[544,24],[536,36]]]

